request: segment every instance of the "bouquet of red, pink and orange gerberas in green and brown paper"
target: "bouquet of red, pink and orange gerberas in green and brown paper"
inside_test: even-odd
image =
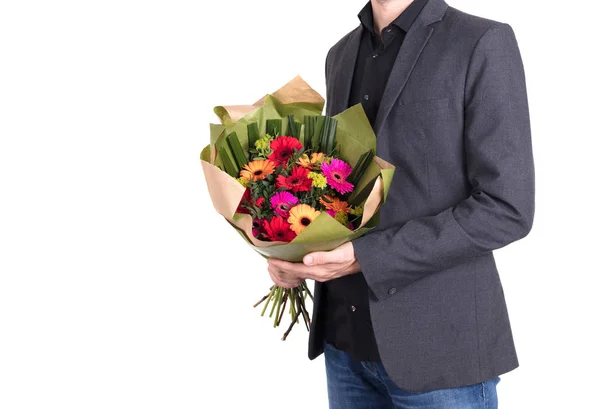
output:
[[[394,168],[375,156],[375,135],[360,105],[322,116],[323,98],[296,77],[251,106],[216,107],[201,153],[215,209],[264,257],[301,261],[375,227]],[[255,307],[279,326],[286,306],[306,328],[305,282],[272,286]]]

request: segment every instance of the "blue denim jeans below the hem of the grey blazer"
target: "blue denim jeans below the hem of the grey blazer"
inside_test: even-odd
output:
[[[379,362],[355,361],[325,343],[329,409],[498,409],[500,377],[459,388],[409,392]]]

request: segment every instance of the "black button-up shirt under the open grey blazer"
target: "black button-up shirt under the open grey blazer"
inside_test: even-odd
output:
[[[404,37],[428,0],[414,0],[379,37],[369,2],[359,13],[363,34],[350,89],[350,106],[362,103],[374,124]],[[362,273],[326,282],[325,341],[358,361],[380,361],[369,312],[368,286]]]

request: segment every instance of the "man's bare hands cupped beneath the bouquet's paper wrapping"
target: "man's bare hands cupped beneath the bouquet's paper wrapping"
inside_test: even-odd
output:
[[[342,244],[331,251],[307,254],[303,263],[289,263],[270,258],[268,264],[271,279],[275,285],[284,288],[297,287],[307,278],[324,282],[360,271],[360,265],[354,257],[352,242]]]

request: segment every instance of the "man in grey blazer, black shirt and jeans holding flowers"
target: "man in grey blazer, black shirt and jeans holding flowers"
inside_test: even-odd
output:
[[[396,166],[370,234],[273,281],[316,280],[309,357],[330,408],[496,408],[518,366],[492,251],[526,236],[534,166],[511,27],[444,0],[372,0],[326,60],[328,115],[362,103]]]

